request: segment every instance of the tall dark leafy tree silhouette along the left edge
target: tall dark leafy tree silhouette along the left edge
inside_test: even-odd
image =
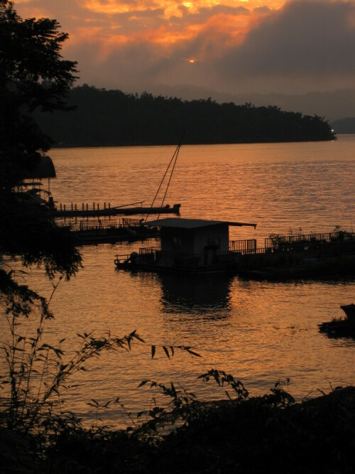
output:
[[[31,200],[23,180],[33,171],[51,140],[33,119],[67,108],[76,63],[62,59],[67,33],[56,20],[23,20],[13,3],[0,0],[0,252],[20,256],[23,264],[43,264],[51,278],[70,277],[80,254],[68,232],[53,224]],[[1,291],[16,290],[13,272],[0,269]]]

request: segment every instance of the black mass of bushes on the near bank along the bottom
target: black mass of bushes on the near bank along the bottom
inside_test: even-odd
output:
[[[279,384],[263,397],[179,399],[133,431],[85,430],[62,418],[44,443],[0,429],[1,472],[354,473],[355,387],[297,404]],[[180,427],[162,436],[168,420]]]

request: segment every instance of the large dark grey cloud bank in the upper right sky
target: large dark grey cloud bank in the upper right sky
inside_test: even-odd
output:
[[[353,1],[293,1],[253,28],[217,61],[221,79],[252,82],[355,79]]]

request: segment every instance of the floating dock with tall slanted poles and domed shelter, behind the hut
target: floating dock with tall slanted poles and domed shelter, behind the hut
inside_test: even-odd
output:
[[[179,149],[180,145],[175,150],[168,166],[169,169],[171,163],[175,160],[168,185]],[[164,181],[167,171],[160,186]],[[70,205],[65,205],[56,203],[50,193],[50,179],[55,177],[53,161],[49,156],[42,156],[36,168],[26,173],[22,183],[16,187],[17,198],[23,202],[23,205],[38,206],[41,212],[55,220],[58,225],[67,227],[80,244],[145,239],[158,235],[157,227],[143,225],[144,218],[138,220],[129,218],[116,219],[112,217],[119,215],[144,215],[145,220],[147,220],[148,215],[158,215],[158,217],[163,214],[180,215],[180,204],[174,204],[172,207],[165,204],[168,185],[160,205],[154,205],[158,192],[155,194],[153,203],[149,207],[143,206],[144,201],[118,206],[112,206],[111,203],[103,203],[102,205],[100,203],[92,203],[92,205],[88,203],[81,203],[80,205],[70,203]],[[42,187],[42,180],[44,178],[48,179],[48,190]]]

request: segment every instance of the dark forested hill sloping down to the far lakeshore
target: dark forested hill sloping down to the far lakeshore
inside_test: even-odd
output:
[[[125,94],[83,85],[70,92],[72,112],[36,113],[54,146],[226,144],[334,139],[321,117],[278,107],[217,104],[211,99]]]

